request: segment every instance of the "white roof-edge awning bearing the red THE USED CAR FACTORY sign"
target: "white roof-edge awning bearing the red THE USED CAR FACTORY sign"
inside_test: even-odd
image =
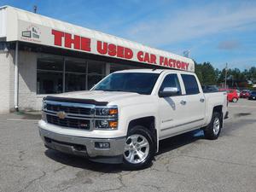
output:
[[[0,8],[0,39],[195,72],[189,58],[10,6]]]

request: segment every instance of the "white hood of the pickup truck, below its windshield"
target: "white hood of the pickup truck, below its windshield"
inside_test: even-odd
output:
[[[123,101],[126,98],[134,99],[135,97],[141,97],[142,95],[121,91],[84,90],[62,93],[55,96],[74,99],[92,99],[97,102],[118,102],[119,100]]]

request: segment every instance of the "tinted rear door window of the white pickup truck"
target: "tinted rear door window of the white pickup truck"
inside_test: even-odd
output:
[[[199,93],[198,84],[194,75],[182,74],[182,78],[187,95]]]

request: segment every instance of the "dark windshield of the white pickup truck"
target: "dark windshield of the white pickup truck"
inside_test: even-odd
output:
[[[159,73],[112,73],[93,90],[124,91],[151,94]]]

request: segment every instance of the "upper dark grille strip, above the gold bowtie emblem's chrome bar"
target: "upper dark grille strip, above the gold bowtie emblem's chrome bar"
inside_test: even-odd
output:
[[[85,114],[85,115],[90,115],[92,113],[91,108],[74,108],[74,107],[67,107],[67,106],[61,106],[61,105],[52,105],[49,103],[47,103],[46,108],[47,110],[53,111],[53,112],[64,111],[65,113]]]

